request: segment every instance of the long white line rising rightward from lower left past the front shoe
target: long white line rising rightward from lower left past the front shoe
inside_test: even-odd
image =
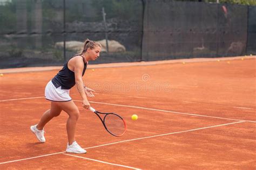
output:
[[[226,125],[232,125],[232,124],[238,124],[238,123],[244,123],[244,122],[246,122],[246,121],[235,121],[235,122],[233,122],[233,123],[227,123],[227,124],[220,124],[220,125],[214,125],[214,126],[206,126],[206,127],[194,128],[194,129],[192,129],[192,130],[179,131],[179,132],[171,132],[171,133],[165,133],[165,134],[152,135],[152,136],[149,136],[149,137],[142,137],[142,138],[134,138],[134,139],[122,140],[122,141],[118,141],[118,142],[111,142],[111,143],[109,143],[109,144],[103,144],[103,145],[98,145],[98,146],[86,147],[85,149],[96,148],[96,147],[102,147],[102,146],[113,145],[113,144],[119,144],[119,143],[123,143],[123,142],[134,141],[134,140],[141,140],[141,139],[162,137],[162,136],[170,135],[170,134],[177,134],[177,133],[185,133],[185,132],[191,132],[191,131],[204,130],[204,129],[207,129],[207,128],[213,128],[213,127],[219,127],[219,126],[226,126]],[[56,154],[61,154],[61,153],[65,153],[65,152],[57,152],[57,153],[51,153],[51,154],[40,155],[40,156],[37,156],[37,157],[30,157],[30,158],[24,158],[24,159],[12,160],[12,161],[0,162],[0,165],[2,165],[2,164],[8,164],[8,163],[11,163],[11,162],[18,162],[18,161],[23,161],[23,160],[35,159],[35,158],[48,157],[48,156],[50,156],[50,155],[56,155]]]

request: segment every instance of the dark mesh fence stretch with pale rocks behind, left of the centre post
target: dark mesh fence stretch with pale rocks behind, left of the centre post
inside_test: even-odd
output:
[[[142,9],[137,0],[0,2],[0,69],[62,65],[80,51],[86,38],[103,45],[93,64],[139,61]]]

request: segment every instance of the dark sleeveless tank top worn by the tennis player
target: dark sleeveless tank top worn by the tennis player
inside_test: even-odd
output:
[[[74,56],[74,57],[76,57],[76,56]],[[83,57],[83,56],[81,56],[81,57]],[[83,61],[84,61],[84,57],[83,57]],[[62,70],[60,70],[57,73],[57,75],[55,77],[53,77],[51,80],[52,84],[56,88],[61,86],[62,89],[71,89],[76,84],[75,72],[69,70],[68,63],[69,63],[69,61],[64,64]],[[84,70],[83,70],[82,76],[84,76],[86,67],[87,67],[87,63],[84,62]]]

